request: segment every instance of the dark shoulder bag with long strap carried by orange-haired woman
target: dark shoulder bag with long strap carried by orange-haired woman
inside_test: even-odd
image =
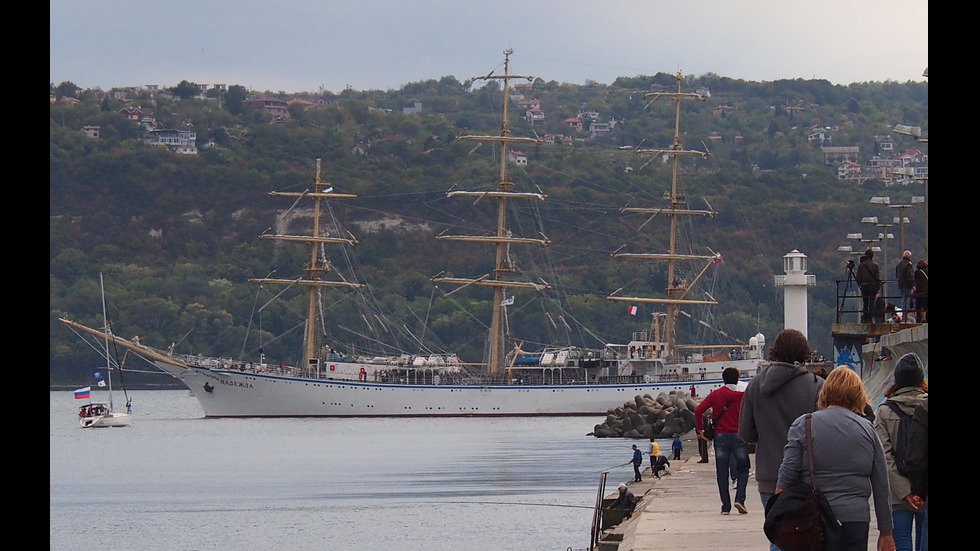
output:
[[[810,483],[800,482],[775,494],[766,503],[763,531],[783,551],[832,550],[840,541],[840,522],[817,488],[813,473],[811,414],[806,414],[806,454]]]

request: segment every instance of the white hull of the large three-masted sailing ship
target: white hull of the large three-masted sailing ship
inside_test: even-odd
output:
[[[156,365],[180,379],[205,417],[507,417],[605,415],[637,395],[691,392],[722,386],[721,370],[738,367],[748,378],[759,360],[691,364],[711,367],[704,380],[630,384],[487,385],[381,383],[301,378],[275,373]],[[721,365],[723,364],[723,365]]]

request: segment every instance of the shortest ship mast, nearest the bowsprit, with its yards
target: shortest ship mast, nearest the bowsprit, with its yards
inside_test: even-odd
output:
[[[295,207],[301,200],[313,202],[313,229],[310,235],[284,235],[284,234],[262,234],[260,239],[273,239],[276,241],[290,241],[305,243],[310,247],[310,260],[306,263],[303,271],[306,277],[296,279],[276,279],[276,278],[249,278],[252,283],[271,284],[271,285],[299,285],[305,287],[308,293],[306,327],[303,337],[303,363],[301,364],[310,374],[313,374],[318,367],[318,346],[316,339],[316,307],[320,290],[324,287],[344,287],[348,289],[360,289],[365,287],[362,283],[349,281],[328,281],[325,278],[333,270],[330,261],[322,255],[324,245],[346,244],[353,247],[357,245],[354,236],[348,233],[347,237],[331,237],[327,232],[320,229],[320,218],[323,207],[321,203],[326,199],[355,199],[357,195],[349,193],[335,193],[333,186],[320,181],[320,159],[316,160],[316,179],[313,183],[313,191],[306,189],[301,192],[280,192],[273,191],[268,194],[270,197],[295,197]],[[290,210],[292,210],[292,208]],[[280,220],[284,220],[286,213],[280,215]]]

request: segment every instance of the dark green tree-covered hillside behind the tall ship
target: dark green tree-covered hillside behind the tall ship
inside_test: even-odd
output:
[[[536,79],[530,89],[519,90],[546,113],[544,124],[533,126],[516,96],[510,102],[512,135],[571,138],[521,148],[527,165],[510,168],[517,190],[548,195],[512,213],[513,220],[528,220],[521,228],[525,233],[541,232],[551,241],[544,252],[516,257],[522,269],[553,286],[543,296],[517,293],[517,304],[525,306],[512,311],[509,323],[514,338],[528,349],[600,347],[623,342],[649,323],[650,308],[630,316],[622,303],[606,297],[626,285],[648,295],[662,295],[666,286],[662,267],[610,258],[624,245],[667,250],[662,220],[638,231],[646,219],[620,212],[627,203],[664,206],[669,165],[634,154],[637,147],[668,147],[673,139],[672,106],[644,97],[658,86],[672,90],[675,75],[620,78],[608,86]],[[51,84],[56,99],[50,108],[52,384],[87,384],[89,367],[99,365],[97,354],[58,318],[101,327],[100,272],[109,318],[121,336],[139,335],[160,348],[173,343],[181,353],[297,361],[302,332],[294,330],[296,320],[287,314],[302,307],[284,295],[282,304],[262,312],[259,326],[258,308],[275,297],[247,279],[273,270],[283,277],[301,273],[308,251],[275,249],[259,236],[290,208],[290,201],[268,193],[308,189],[316,159],[322,159],[323,180],[358,196],[336,205],[333,214],[358,240],[352,252],[371,298],[412,334],[459,351],[466,361],[481,361],[490,293],[446,296],[429,279],[441,271],[473,275],[492,269],[489,248],[464,249],[435,237],[493,227],[487,205],[450,200],[446,191],[496,184],[495,147],[457,139],[499,133],[502,93],[496,82],[445,76],[399,90],[319,96],[266,92],[287,102],[306,100],[289,102],[287,117],[244,107],[246,98],[259,93],[241,86],[203,93],[201,88],[184,81],[165,99],[145,90],[110,94]],[[922,195],[922,186],[839,180],[837,166],[823,164],[819,145],[808,135],[813,128],[832,129],[833,145],[860,147],[863,161],[877,152],[876,137],[885,135],[896,150],[926,151],[927,144],[892,127],[908,124],[927,131],[928,87],[911,81],[747,82],[706,74],[685,80],[685,91],[696,89],[710,90],[710,98],[684,102],[681,141],[688,149],[707,148],[711,156],[682,161],[680,181],[691,208],[710,205],[719,212],[690,230],[699,246],[724,258],[712,270],[717,278],[712,294],[720,306],[708,324],[741,340],[757,332],[774,337],[783,323],[783,292],[774,276],[783,274],[783,255],[797,249],[807,255],[808,273],[817,279],[810,289],[811,344],[829,357],[835,281],[846,278],[845,262],[851,258],[838,252],[838,245],[851,244],[848,233],[872,233],[860,223],[862,217],[893,214],[870,204],[872,196],[909,202]],[[65,97],[77,101],[61,101]],[[195,132],[197,155],[146,145],[145,128],[120,114],[134,105],[151,109],[157,128]],[[421,112],[405,109],[415,105]],[[720,105],[735,109],[716,115]],[[794,106],[803,108],[786,109]],[[590,112],[611,131],[590,133],[589,117],[581,119],[581,131],[563,123]],[[86,126],[99,127],[99,137],[87,136]],[[924,245],[918,207],[906,212],[911,223],[904,232],[906,248],[917,257]],[[897,229],[891,231],[897,237]],[[888,258],[882,271],[892,278],[897,239],[889,243]],[[335,334],[338,346],[353,343],[361,333],[357,327],[365,323],[362,314],[344,307],[345,300],[325,301],[331,317],[346,328]],[[532,314],[559,302],[561,320],[533,321]],[[127,362],[139,366],[134,359]],[[170,382],[166,376],[131,378]]]

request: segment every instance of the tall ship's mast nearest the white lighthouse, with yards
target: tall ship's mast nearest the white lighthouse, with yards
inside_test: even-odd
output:
[[[676,321],[677,315],[680,313],[680,308],[684,304],[691,305],[714,305],[718,304],[715,300],[697,300],[688,298],[688,293],[691,291],[693,286],[701,279],[702,276],[708,271],[708,268],[712,264],[721,261],[721,255],[691,255],[691,254],[679,254],[677,252],[677,225],[680,216],[715,216],[718,213],[713,210],[693,210],[685,208],[687,204],[684,195],[677,192],[677,172],[680,164],[681,157],[689,156],[700,156],[703,158],[708,158],[710,154],[705,151],[696,150],[686,150],[681,144],[680,138],[680,124],[681,124],[681,100],[684,99],[698,99],[704,101],[707,99],[707,95],[702,95],[698,93],[684,93],[681,92],[681,83],[683,82],[683,76],[680,72],[677,73],[677,91],[676,92],[649,92],[643,95],[644,98],[652,97],[650,103],[647,107],[657,101],[660,98],[667,98],[674,101],[674,142],[669,149],[637,149],[635,151],[638,155],[650,155],[651,161],[653,158],[662,157],[670,159],[671,162],[671,184],[669,194],[665,194],[665,199],[670,203],[668,208],[664,209],[653,209],[653,208],[637,208],[637,207],[626,207],[620,209],[620,212],[624,213],[639,213],[648,214],[649,218],[640,227],[645,226],[653,217],[657,215],[665,215],[670,218],[670,246],[666,254],[657,253],[625,253],[620,252],[622,247],[617,251],[612,253],[612,257],[618,258],[634,258],[634,259],[644,259],[644,260],[661,260],[667,262],[667,296],[666,298],[657,297],[636,297],[636,296],[620,296],[619,289],[610,294],[607,298],[610,300],[618,300],[623,302],[643,302],[643,303],[659,303],[667,305],[667,314],[664,320],[664,339],[667,344],[667,355],[668,358],[676,358],[677,350],[675,348],[676,341]],[[650,161],[647,161],[649,163]],[[691,261],[705,261],[704,268],[694,277],[691,282],[685,282],[684,280],[677,277],[677,263],[678,262],[691,262]],[[659,320],[657,319],[660,314],[654,315],[653,325],[654,328],[659,332]]]

